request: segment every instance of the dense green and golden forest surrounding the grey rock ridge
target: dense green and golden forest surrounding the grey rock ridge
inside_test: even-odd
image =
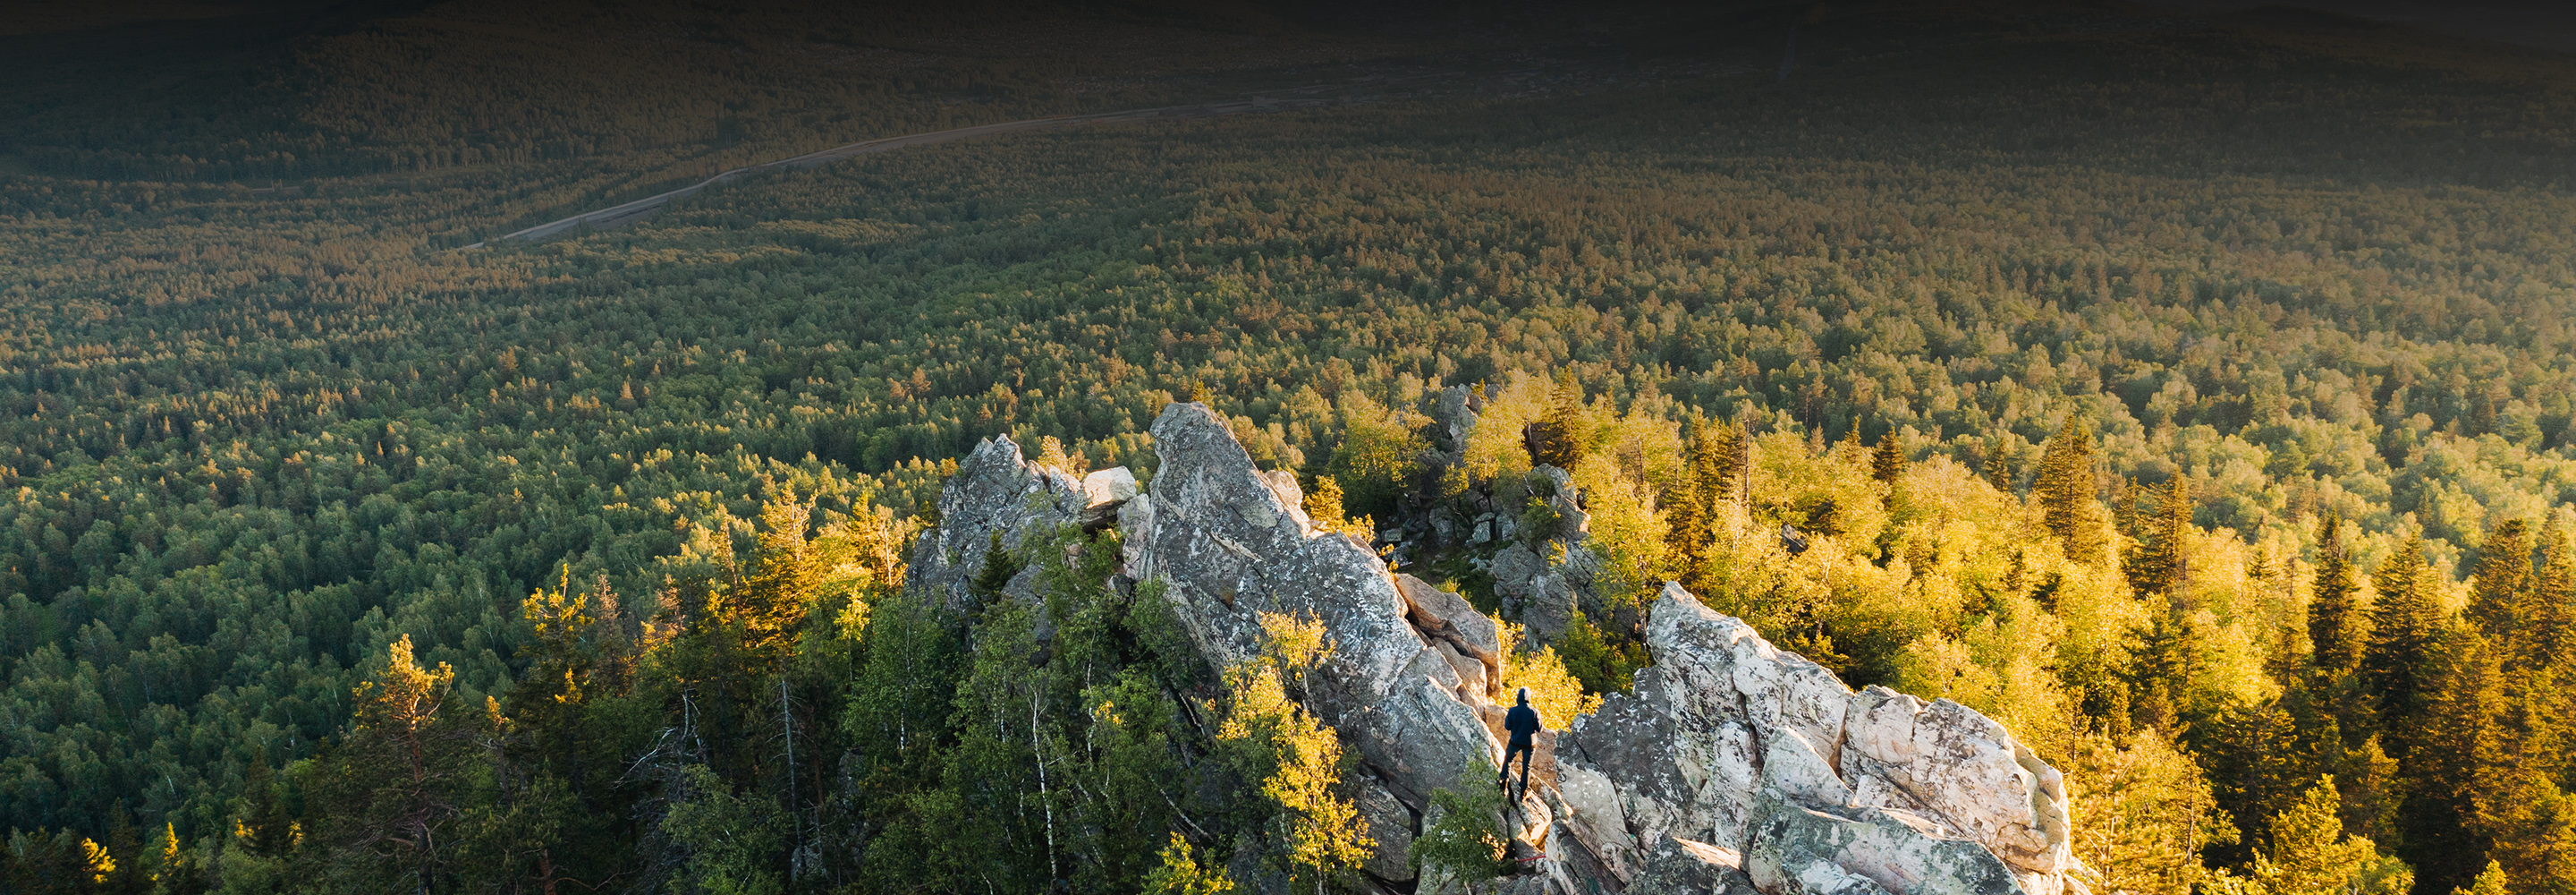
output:
[[[1530,62],[1582,90],[922,147],[453,250],[845,139],[1419,62],[1260,10],[739,13],[451,3],[15,93],[13,890],[1329,877],[1236,849],[1306,818],[1239,792],[1329,776],[1293,647],[1195,665],[1103,544],[971,619],[899,555],[979,438],[1149,475],[1193,397],[1350,513],[1445,513],[1409,451],[1448,384],[1486,395],[1466,485],[1558,459],[1631,591],[2007,720],[2107,890],[2576,887],[2566,57],[2290,13],[1613,21]],[[1126,44],[1002,49],[1066,31]],[[1744,534],[1783,521],[1824,549]],[[1486,598],[1468,557],[1414,562]],[[1633,609],[1548,663],[1623,686]],[[2321,825],[2370,849],[2298,872]]]

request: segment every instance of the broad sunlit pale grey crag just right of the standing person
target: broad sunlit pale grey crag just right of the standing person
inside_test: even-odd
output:
[[[1672,836],[1739,849],[1770,895],[2069,887],[2063,782],[1994,720],[1855,694],[1680,585],[1656,601],[1646,647],[1633,691],[1556,745],[1569,823],[1592,828],[1613,872]]]

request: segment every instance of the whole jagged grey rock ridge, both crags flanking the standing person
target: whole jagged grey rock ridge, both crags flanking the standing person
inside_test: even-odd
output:
[[[987,441],[940,500],[914,588],[966,598],[992,531],[1018,544],[1115,508],[1126,575],[1167,583],[1211,663],[1255,655],[1262,611],[1321,622],[1332,653],[1309,707],[1360,756],[1352,800],[1381,851],[1368,872],[1409,885],[1404,843],[1427,794],[1502,758],[1494,624],[1319,531],[1296,480],[1257,469],[1203,405],[1164,408],[1151,433],[1162,467],[1141,495],[1103,485],[1133,482],[1123,469],[1077,482]],[[2081,895],[2058,771],[1994,720],[1855,694],[1680,585],[1651,609],[1649,650],[1633,694],[1540,740],[1530,794],[1504,818],[1540,854],[1515,890]]]

